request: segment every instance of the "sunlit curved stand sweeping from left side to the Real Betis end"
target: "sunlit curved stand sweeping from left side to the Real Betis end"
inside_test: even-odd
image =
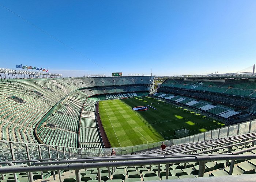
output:
[[[108,93],[150,92],[153,82],[154,76],[3,79],[0,82],[0,139],[102,147],[95,115],[95,103],[99,99],[88,98]],[[89,120],[93,127],[80,125]],[[89,138],[80,144],[79,134]],[[94,137],[97,142],[91,139]]]

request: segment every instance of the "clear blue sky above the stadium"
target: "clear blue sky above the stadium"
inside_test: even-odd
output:
[[[0,0],[0,63],[64,76],[236,72],[256,63],[256,1]]]

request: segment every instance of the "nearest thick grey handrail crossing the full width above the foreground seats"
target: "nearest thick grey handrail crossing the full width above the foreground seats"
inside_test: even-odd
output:
[[[199,162],[199,175],[198,177],[203,177],[205,162],[210,161],[222,161],[222,160],[238,160],[238,159],[256,159],[256,155],[198,155],[195,157],[187,158],[164,158],[164,159],[147,159],[142,161],[132,160],[132,161],[113,161],[113,162],[95,162],[95,163],[69,163],[61,165],[50,165],[50,166],[31,166],[31,167],[10,167],[8,169],[1,169],[0,173],[20,173],[20,172],[35,172],[35,171],[53,171],[53,170],[75,170],[76,179],[81,182],[80,169],[87,168],[98,168],[101,167],[119,167],[119,166],[134,166],[134,165],[159,165],[159,164],[169,164],[169,163],[185,163],[185,162]],[[233,167],[230,166],[230,172],[233,173]],[[169,165],[166,165],[166,171],[169,170]],[[168,175],[166,176],[168,179]],[[33,179],[32,181],[33,182]]]

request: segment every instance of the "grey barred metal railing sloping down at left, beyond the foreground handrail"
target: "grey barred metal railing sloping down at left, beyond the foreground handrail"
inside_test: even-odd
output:
[[[0,161],[48,159],[48,158],[82,158],[89,156],[110,155],[99,147],[81,149],[39,143],[25,143],[0,140]]]

